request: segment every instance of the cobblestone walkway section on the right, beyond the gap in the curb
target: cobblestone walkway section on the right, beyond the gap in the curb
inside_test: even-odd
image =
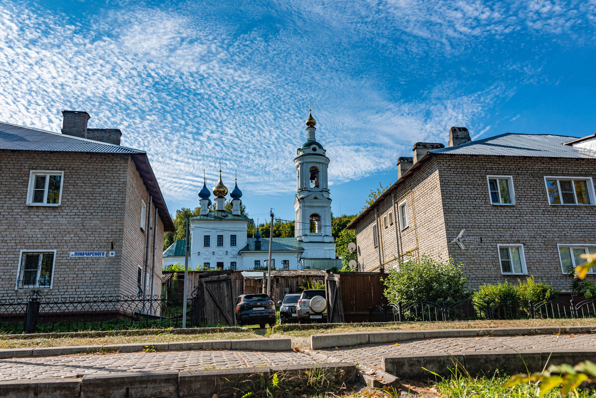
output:
[[[340,349],[318,350],[328,360],[361,363],[373,368],[381,368],[381,357],[412,354],[492,351],[519,352],[524,350],[581,350],[596,347],[595,334],[575,335],[529,335],[529,336],[489,336],[431,338],[427,340],[402,341],[399,344],[378,344]]]

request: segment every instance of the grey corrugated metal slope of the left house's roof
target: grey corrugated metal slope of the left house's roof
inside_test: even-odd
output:
[[[0,122],[0,150],[142,154],[132,148]]]

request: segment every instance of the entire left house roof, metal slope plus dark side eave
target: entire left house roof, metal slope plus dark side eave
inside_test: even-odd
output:
[[[164,231],[176,231],[145,151],[4,122],[0,122],[0,150],[129,154],[147,191],[153,197]]]

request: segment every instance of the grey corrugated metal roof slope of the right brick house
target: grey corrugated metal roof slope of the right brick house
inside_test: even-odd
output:
[[[493,137],[470,141],[457,147],[448,147],[430,152],[450,155],[496,155],[496,156],[539,156],[593,158],[596,152],[564,145],[575,137],[550,134],[505,133]]]

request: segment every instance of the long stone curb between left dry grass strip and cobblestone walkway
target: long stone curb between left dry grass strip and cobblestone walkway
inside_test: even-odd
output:
[[[27,356],[54,356],[95,353],[127,353],[153,351],[238,350],[291,351],[290,338],[247,338],[244,340],[172,341],[171,343],[105,344],[104,346],[40,347],[34,349],[3,349],[0,359]]]

